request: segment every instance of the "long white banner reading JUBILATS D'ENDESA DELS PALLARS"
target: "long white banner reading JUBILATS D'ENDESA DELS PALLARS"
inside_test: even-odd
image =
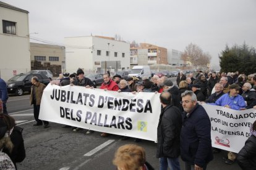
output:
[[[156,142],[161,112],[160,94],[113,92],[80,86],[48,84],[39,118]]]

